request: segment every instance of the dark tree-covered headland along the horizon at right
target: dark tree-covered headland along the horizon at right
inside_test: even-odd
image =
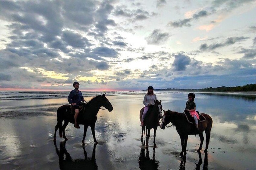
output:
[[[142,91],[147,91],[147,90],[142,90]],[[180,89],[180,88],[160,88],[160,89],[155,89],[154,91],[256,91],[256,84],[247,84],[244,86],[236,86],[236,87],[216,87],[216,88],[200,88],[200,89]]]

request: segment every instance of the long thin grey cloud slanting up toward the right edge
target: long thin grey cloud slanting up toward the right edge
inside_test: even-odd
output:
[[[241,42],[245,39],[249,39],[249,37],[230,37],[227,38],[225,42],[223,43],[216,43],[216,44],[210,44],[207,45],[206,43],[200,45],[200,50],[201,51],[212,51],[215,50],[216,48],[221,48],[221,47],[225,47],[228,45],[232,45],[235,44],[236,42]]]

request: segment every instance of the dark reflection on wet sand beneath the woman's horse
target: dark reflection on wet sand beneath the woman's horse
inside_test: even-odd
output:
[[[142,141],[141,141],[142,143]],[[144,144],[145,145],[145,141]],[[146,155],[145,155],[146,150]],[[149,148],[146,149],[141,148],[140,155],[139,155],[139,168],[145,170],[158,170],[159,169],[159,161],[155,160],[155,147],[153,148],[153,158],[150,159],[149,156]]]

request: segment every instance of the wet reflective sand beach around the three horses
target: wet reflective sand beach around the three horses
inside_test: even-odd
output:
[[[106,97],[114,110],[99,111],[95,125],[99,144],[94,145],[88,128],[84,148],[83,128],[70,123],[69,140],[57,136],[53,142],[56,110],[67,104],[66,98],[1,101],[0,169],[255,169],[255,96],[196,94],[197,110],[212,116],[213,128],[207,154],[205,141],[198,154],[200,138],[189,136],[186,159],[179,156],[175,127],[158,127],[155,149],[151,130],[149,148],[143,146],[146,137],[140,140],[139,122],[143,94]],[[187,100],[187,94],[180,92],[157,97],[164,110],[177,112],[184,110]]]

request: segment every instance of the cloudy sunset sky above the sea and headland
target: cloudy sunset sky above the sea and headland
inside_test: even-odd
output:
[[[0,1],[0,90],[256,83],[255,0]]]

